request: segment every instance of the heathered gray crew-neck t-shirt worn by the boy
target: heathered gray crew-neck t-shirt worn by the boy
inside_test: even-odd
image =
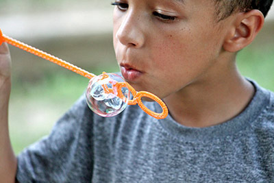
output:
[[[19,182],[274,182],[274,95],[256,94],[237,117],[194,128],[138,106],[92,113],[84,96],[51,134],[18,156]],[[145,104],[159,110],[155,103]]]

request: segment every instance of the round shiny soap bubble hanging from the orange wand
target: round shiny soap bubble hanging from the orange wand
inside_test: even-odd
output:
[[[125,80],[114,73],[93,77],[86,89],[88,107],[102,117],[113,117],[122,112],[129,101],[129,89],[121,87],[120,82]]]

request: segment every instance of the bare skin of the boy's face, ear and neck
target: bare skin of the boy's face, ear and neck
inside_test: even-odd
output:
[[[190,127],[216,125],[247,106],[254,88],[235,65],[236,51],[249,44],[245,14],[218,22],[210,0],[116,3],[122,3],[114,9],[116,59],[142,73],[127,82],[164,99],[175,121]],[[176,19],[166,21],[153,12]]]

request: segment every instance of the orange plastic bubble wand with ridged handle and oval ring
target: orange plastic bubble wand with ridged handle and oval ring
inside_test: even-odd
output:
[[[32,46],[26,45],[23,42],[20,42],[18,40],[15,40],[14,38],[10,38],[9,36],[5,36],[0,29],[0,45],[2,45],[3,42],[7,42],[10,45],[13,45],[14,47],[18,47],[19,49],[23,49],[29,53],[32,53],[40,58],[44,58],[45,60],[49,60],[50,62],[53,62],[55,64],[58,64],[66,69],[69,69],[79,75],[82,75],[84,77],[87,77],[88,79],[92,79],[93,77],[97,77],[97,75],[89,73],[88,71],[85,71],[84,69],[81,69],[73,64],[70,64],[69,62],[66,62],[60,58],[57,58],[55,56],[51,56],[51,54],[46,53],[44,51],[41,51],[39,49],[36,49]],[[105,77],[108,77],[108,75],[106,73],[103,73],[103,75],[105,75]],[[134,88],[132,88],[132,86],[130,86],[127,82],[121,82],[118,84],[118,88],[123,88],[126,87],[129,89],[129,91],[132,93],[133,95],[133,99],[128,101],[128,105],[136,105],[138,103],[138,106],[140,106],[140,108],[146,112],[147,114],[149,114],[151,117],[154,117],[156,119],[164,119],[167,117],[167,115],[169,114],[169,110],[167,109],[165,103],[158,98],[156,95],[153,95],[152,93],[146,92],[146,91],[140,91],[140,92],[136,92],[136,90]],[[106,86],[103,88],[105,93],[110,93],[111,89],[107,88]],[[122,98],[121,93],[119,93],[119,96]],[[149,108],[147,108],[143,103],[141,98],[142,97],[148,97],[154,101],[156,101],[162,108],[162,113],[157,113],[157,112],[153,112],[151,110],[149,110]]]

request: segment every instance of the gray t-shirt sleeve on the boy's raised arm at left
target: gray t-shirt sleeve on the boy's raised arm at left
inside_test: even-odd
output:
[[[49,136],[18,155],[18,182],[90,182],[92,112],[82,96]]]

